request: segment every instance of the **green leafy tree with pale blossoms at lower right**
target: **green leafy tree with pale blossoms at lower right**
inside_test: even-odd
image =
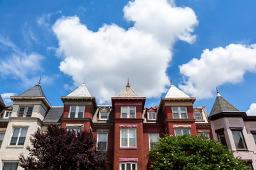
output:
[[[218,141],[195,135],[165,135],[149,151],[151,169],[249,169]]]

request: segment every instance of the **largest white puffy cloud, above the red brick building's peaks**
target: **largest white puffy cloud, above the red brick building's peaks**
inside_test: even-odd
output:
[[[124,17],[134,21],[125,30],[104,25],[97,32],[78,17],[60,18],[53,26],[59,40],[60,71],[85,85],[100,103],[110,101],[130,84],[140,96],[159,97],[170,84],[166,69],[176,40],[193,42],[198,21],[191,8],[171,6],[166,0],[136,0],[124,7]]]

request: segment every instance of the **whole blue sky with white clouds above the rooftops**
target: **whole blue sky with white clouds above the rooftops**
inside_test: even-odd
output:
[[[157,106],[171,79],[194,106],[215,87],[256,115],[256,1],[0,1],[0,94],[38,83],[52,106],[85,80],[97,103],[127,84]]]

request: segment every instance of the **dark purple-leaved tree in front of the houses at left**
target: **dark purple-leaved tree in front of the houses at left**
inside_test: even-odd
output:
[[[25,170],[100,169],[107,162],[106,155],[95,148],[90,132],[67,131],[49,125],[46,132],[39,130],[30,138],[27,158],[21,154],[19,165]]]

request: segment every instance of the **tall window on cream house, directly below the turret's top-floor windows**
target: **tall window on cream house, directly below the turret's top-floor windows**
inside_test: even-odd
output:
[[[28,128],[14,128],[10,145],[24,145]]]

